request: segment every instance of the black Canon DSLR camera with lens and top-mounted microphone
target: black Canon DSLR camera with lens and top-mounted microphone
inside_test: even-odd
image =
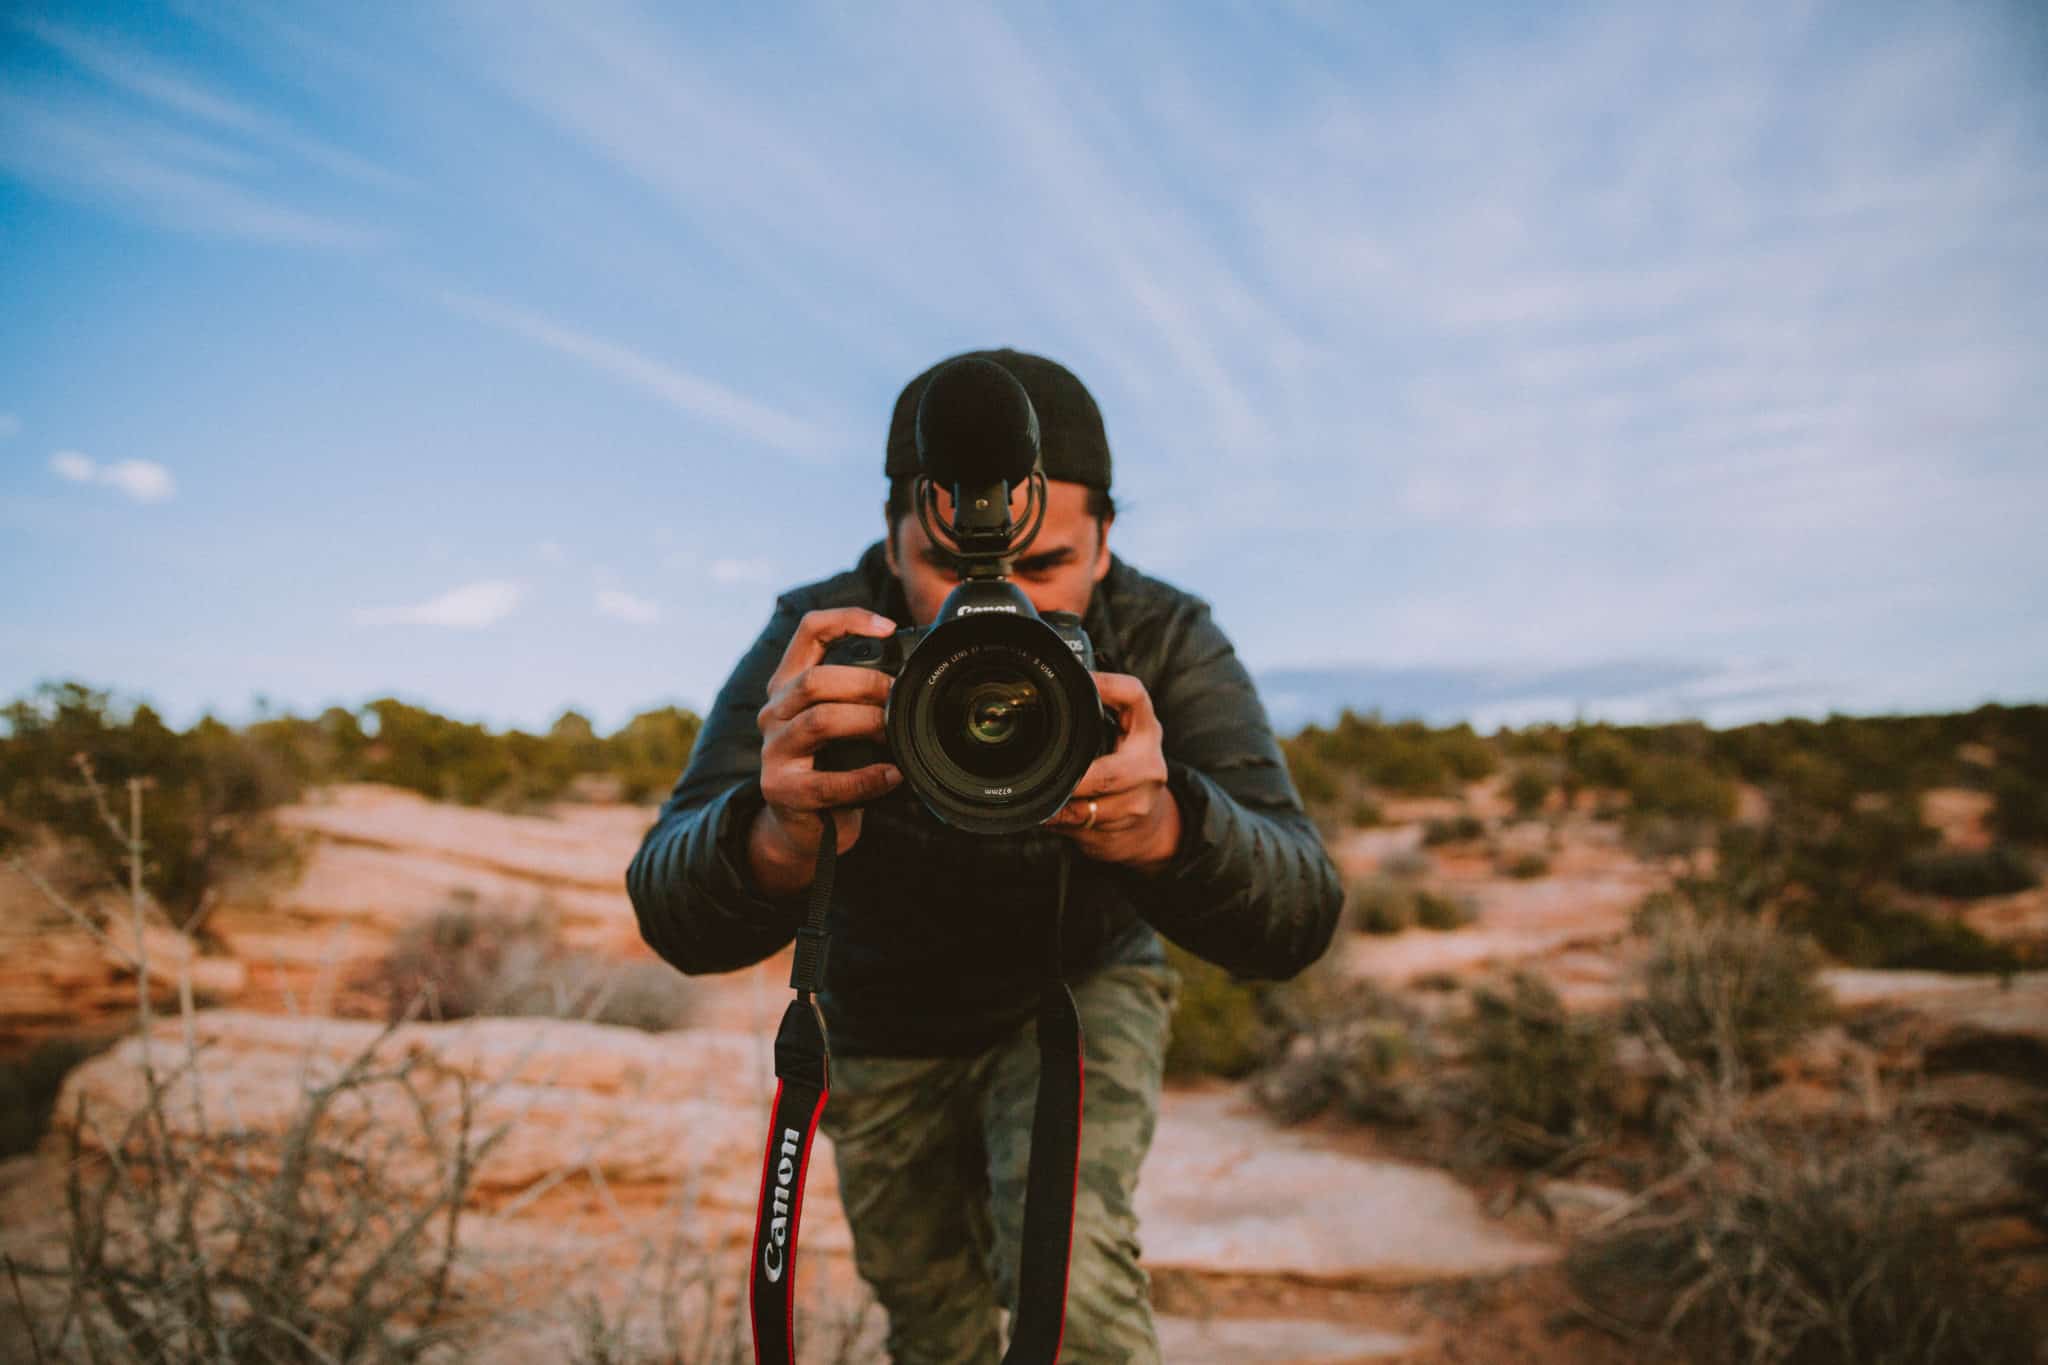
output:
[[[893,761],[934,817],[981,835],[1008,835],[1051,819],[1087,765],[1116,747],[1116,714],[1092,677],[1096,653],[1073,612],[1040,616],[1010,561],[1044,524],[1038,413],[993,360],[963,358],[926,385],[915,420],[918,520],[961,563],[930,626],[889,639],[846,636],[825,663],[895,677],[885,739],[834,741],[817,767],[848,772]],[[938,489],[952,491],[952,520]],[[1020,520],[1012,491],[1026,487]]]

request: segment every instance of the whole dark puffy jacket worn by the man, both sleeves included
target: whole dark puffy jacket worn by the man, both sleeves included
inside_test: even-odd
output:
[[[838,606],[913,624],[881,542],[850,573],[776,600],[627,868],[641,935],[684,972],[760,962],[803,921],[801,894],[764,896],[748,870],[764,804],[756,712],[797,620]],[[1343,892],[1208,606],[1112,559],[1083,626],[1096,667],[1133,673],[1153,698],[1182,841],[1155,876],[1075,857],[1061,931],[1069,980],[1159,962],[1153,929],[1239,976],[1303,970],[1329,945]],[[948,829],[907,786],[870,804],[834,884],[821,990],[834,1050],[961,1056],[1028,1019],[1065,843]]]

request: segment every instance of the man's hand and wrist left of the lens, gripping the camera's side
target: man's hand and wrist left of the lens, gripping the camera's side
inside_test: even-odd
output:
[[[762,796],[768,806],[748,835],[754,880],[768,894],[791,894],[811,884],[817,845],[834,812],[840,853],[860,839],[860,804],[903,782],[895,763],[868,763],[852,772],[817,772],[817,751],[834,739],[881,739],[883,702],[891,677],[874,669],[821,663],[825,647],[848,634],[889,636],[897,624],[858,606],[807,612],[768,679],[760,708]]]

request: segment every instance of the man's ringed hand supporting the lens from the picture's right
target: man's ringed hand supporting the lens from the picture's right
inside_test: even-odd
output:
[[[1145,684],[1096,673],[1096,692],[1122,716],[1122,739],[1081,774],[1081,784],[1044,823],[1096,862],[1157,872],[1180,847],[1180,802],[1165,790],[1163,731]]]

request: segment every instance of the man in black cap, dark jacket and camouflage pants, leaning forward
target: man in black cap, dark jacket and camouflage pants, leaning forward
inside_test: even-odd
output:
[[[817,812],[836,812],[823,1128],[854,1261],[889,1312],[897,1365],[993,1365],[997,1308],[1016,1312],[1034,1007],[1071,845],[1061,945],[1087,1085],[1061,1359],[1157,1361],[1133,1193],[1178,986],[1159,935],[1241,976],[1292,976],[1327,948],[1341,888],[1208,608],[1110,553],[1110,446],[1094,397],[1040,356],[975,354],[1008,368],[1038,411],[1049,512],[1012,581],[1040,612],[1083,618],[1098,690],[1120,714],[1114,753],[1024,835],[940,825],[893,763],[813,765],[827,741],[881,739],[891,684],[823,665],[825,645],[930,624],[956,583],[911,501],[926,370],[889,426],[885,538],[850,573],[776,602],[627,886],[647,943],[684,972],[748,966],[803,921]],[[944,493],[940,512],[952,514]]]

